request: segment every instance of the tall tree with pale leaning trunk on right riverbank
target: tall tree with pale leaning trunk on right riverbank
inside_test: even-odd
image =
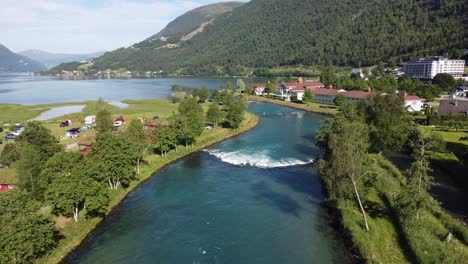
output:
[[[366,230],[369,230],[366,211],[359,194],[360,181],[373,174],[367,170],[367,150],[369,146],[368,127],[359,120],[348,121],[338,116],[328,123],[327,131],[322,132],[322,144],[327,145],[324,159],[319,167],[324,181],[333,197],[349,197],[354,193],[361,210]],[[324,137],[323,133],[327,133]]]

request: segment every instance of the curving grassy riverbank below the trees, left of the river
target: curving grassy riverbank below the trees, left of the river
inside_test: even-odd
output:
[[[111,193],[109,207],[105,215],[109,215],[133,189],[148,180],[152,175],[168,164],[203,148],[245,133],[258,124],[259,118],[256,115],[246,113],[245,117],[244,122],[237,130],[229,130],[220,127],[215,128],[211,131],[205,131],[193,147],[181,147],[178,152],[169,152],[165,157],[156,155],[145,157],[146,164],[141,167],[138,179],[131,182],[127,189],[118,189]],[[80,215],[79,221],[74,223],[72,219],[58,217],[56,219],[56,225],[64,238],[60,240],[55,250],[39,259],[37,263],[59,263],[67,254],[78,247],[103,219],[104,218],[84,219],[84,216]]]

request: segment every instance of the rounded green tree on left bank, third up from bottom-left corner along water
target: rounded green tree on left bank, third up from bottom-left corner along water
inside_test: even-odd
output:
[[[95,168],[93,177],[111,190],[127,187],[134,179],[137,153],[126,137],[103,133],[93,144],[88,160]]]

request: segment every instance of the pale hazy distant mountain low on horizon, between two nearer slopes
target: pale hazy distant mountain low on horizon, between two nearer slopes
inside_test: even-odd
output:
[[[48,69],[55,67],[64,62],[72,61],[85,61],[93,59],[104,54],[104,51],[88,53],[88,54],[63,54],[63,53],[49,53],[42,50],[25,50],[18,52],[23,56],[29,57],[44,64]]]

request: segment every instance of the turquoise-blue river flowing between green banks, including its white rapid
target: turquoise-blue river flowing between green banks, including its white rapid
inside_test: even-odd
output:
[[[348,263],[318,172],[321,115],[251,103],[259,125],[132,191],[65,263]]]

